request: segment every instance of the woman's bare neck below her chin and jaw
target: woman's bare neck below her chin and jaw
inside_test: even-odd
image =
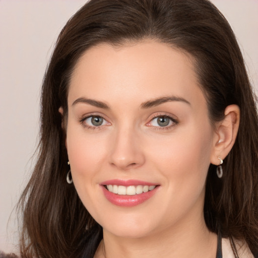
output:
[[[216,257],[217,235],[208,230],[204,218],[179,224],[141,238],[119,237],[104,229],[95,258]]]

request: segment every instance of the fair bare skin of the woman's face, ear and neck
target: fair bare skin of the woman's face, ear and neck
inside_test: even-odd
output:
[[[177,99],[142,107],[171,96]],[[215,257],[217,236],[203,215],[205,180],[210,163],[218,165],[218,156],[225,158],[234,144],[239,109],[227,107],[225,119],[211,125],[191,58],[151,40],[94,46],[75,67],[68,106],[74,185],[103,227],[95,257]],[[94,115],[104,118],[102,125],[84,119]],[[162,127],[154,117],[164,115],[174,121]],[[110,179],[159,187],[143,204],[118,207],[100,187]]]

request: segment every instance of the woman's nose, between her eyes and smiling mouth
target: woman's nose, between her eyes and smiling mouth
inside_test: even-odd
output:
[[[109,162],[119,170],[137,168],[145,163],[140,137],[132,128],[120,128],[110,144]]]

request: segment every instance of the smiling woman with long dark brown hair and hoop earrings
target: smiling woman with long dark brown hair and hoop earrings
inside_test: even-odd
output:
[[[257,256],[257,146],[243,58],[209,1],[92,0],[44,77],[21,256]]]

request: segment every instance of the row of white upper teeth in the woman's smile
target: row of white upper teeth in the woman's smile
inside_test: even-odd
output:
[[[123,185],[108,184],[106,185],[106,187],[110,192],[117,193],[118,195],[134,196],[134,195],[140,195],[140,193],[143,193],[143,192],[151,191],[156,187],[156,185],[123,186]]]

